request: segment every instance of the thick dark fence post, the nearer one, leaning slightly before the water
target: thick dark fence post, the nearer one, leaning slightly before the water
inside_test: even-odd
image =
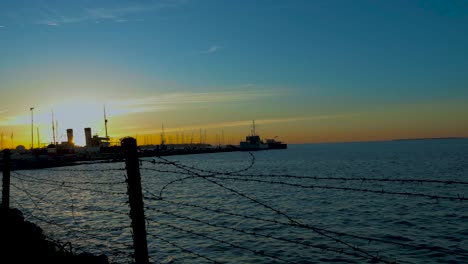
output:
[[[143,194],[141,190],[140,164],[136,139],[128,137],[122,139],[122,148],[127,168],[127,189],[130,202],[130,218],[133,228],[133,249],[137,264],[149,263],[148,242],[146,240],[145,211],[143,208]]]

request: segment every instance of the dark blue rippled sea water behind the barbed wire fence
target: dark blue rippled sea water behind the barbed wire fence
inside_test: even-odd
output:
[[[168,157],[196,174],[143,162],[151,261],[372,263],[372,255],[398,263],[468,263],[468,201],[349,190],[468,197],[468,185],[329,179],[468,182],[468,140],[289,147],[255,152],[249,170],[216,177],[208,171],[248,168],[251,156]],[[12,204],[77,252],[132,262],[125,171],[116,170],[121,168],[123,163],[19,171],[12,174]]]

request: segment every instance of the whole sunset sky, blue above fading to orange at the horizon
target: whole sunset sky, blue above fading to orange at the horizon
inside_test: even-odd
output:
[[[53,112],[83,145],[105,105],[140,144],[467,137],[466,47],[467,1],[3,0],[0,132],[49,143]]]

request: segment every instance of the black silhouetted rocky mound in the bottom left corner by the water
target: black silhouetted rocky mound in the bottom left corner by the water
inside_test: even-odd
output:
[[[17,209],[0,210],[0,263],[109,264],[105,255],[74,255],[48,241],[42,229]]]

